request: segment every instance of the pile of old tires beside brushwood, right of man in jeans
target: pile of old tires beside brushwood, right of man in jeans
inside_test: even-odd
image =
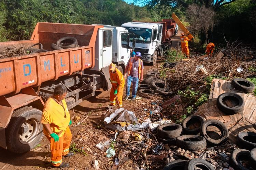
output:
[[[162,96],[172,95],[166,82],[159,79],[159,73],[158,70],[151,70],[146,73],[147,78],[142,81],[142,84],[138,85],[139,93],[143,97],[153,94]]]

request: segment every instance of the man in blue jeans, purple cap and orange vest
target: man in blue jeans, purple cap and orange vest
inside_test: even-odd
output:
[[[141,57],[141,53],[136,52],[135,57],[130,58],[125,67],[124,78],[127,77],[125,100],[127,100],[130,95],[131,82],[132,82],[132,86],[133,86],[131,100],[135,100],[137,89],[138,89],[138,84],[139,84],[139,82],[142,82],[142,80],[143,80],[144,67],[143,67],[142,60],[140,60],[140,57]],[[126,76],[126,73],[127,73],[127,76]]]

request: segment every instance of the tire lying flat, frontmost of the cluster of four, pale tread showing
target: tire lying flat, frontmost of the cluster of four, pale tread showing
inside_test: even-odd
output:
[[[200,151],[206,148],[206,140],[198,135],[183,135],[176,138],[176,145],[190,151]]]

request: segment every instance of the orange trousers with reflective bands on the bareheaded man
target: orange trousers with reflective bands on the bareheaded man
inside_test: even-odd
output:
[[[62,156],[69,153],[69,146],[72,139],[72,134],[69,127],[67,127],[63,136],[59,138],[59,141],[54,141],[54,138],[46,136],[51,142],[51,153],[52,159],[51,163],[53,166],[59,166],[62,163]]]

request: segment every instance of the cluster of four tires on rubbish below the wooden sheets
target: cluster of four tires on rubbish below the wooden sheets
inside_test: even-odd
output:
[[[196,126],[190,126],[196,124]],[[214,126],[221,132],[218,139],[211,138],[207,133],[207,128]],[[176,143],[178,147],[189,151],[204,150],[206,147],[219,146],[228,140],[228,129],[215,119],[205,120],[199,115],[188,116],[180,124],[163,124],[157,129],[158,139],[170,144]],[[176,140],[175,142],[173,140]]]

